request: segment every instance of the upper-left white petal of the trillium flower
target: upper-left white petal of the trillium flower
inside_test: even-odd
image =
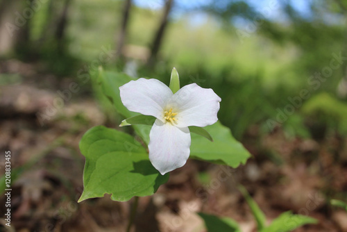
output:
[[[119,90],[121,102],[128,110],[160,119],[173,95],[170,88],[157,79],[139,78],[122,85]]]

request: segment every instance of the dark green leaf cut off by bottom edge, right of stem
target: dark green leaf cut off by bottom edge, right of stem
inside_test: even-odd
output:
[[[205,221],[208,232],[241,232],[239,225],[229,217],[216,217],[205,213],[198,213]]]

